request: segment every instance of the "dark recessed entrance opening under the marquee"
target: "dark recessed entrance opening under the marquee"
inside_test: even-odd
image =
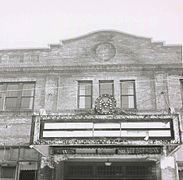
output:
[[[153,162],[65,162],[64,180],[156,180]]]

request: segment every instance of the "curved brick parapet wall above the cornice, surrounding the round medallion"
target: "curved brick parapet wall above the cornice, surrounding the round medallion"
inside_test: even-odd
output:
[[[163,46],[152,43],[150,38],[136,37],[125,33],[101,31],[51,46],[50,49],[1,50],[1,65],[99,65],[104,64],[97,58],[96,48],[99,44],[110,43],[115,48],[115,56],[105,64],[181,64],[181,46]],[[113,51],[108,52],[113,53]],[[9,60],[9,55],[23,54],[23,63]],[[31,54],[39,55],[38,62],[30,60]],[[176,67],[178,67],[176,65]]]

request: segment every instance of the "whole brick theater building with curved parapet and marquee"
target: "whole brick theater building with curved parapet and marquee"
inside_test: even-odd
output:
[[[116,31],[0,50],[0,179],[182,180],[182,70]]]

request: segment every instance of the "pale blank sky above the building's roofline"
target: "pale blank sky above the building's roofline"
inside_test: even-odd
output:
[[[183,43],[183,0],[0,0],[0,49],[44,48],[116,30]]]

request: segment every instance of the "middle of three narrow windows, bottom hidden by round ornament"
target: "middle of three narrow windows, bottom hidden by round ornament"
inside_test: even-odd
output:
[[[99,81],[99,95],[109,94],[114,96],[114,83],[111,80]]]

